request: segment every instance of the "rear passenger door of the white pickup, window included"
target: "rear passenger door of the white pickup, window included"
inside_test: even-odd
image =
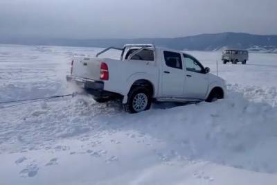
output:
[[[184,67],[181,54],[163,51],[161,91],[163,97],[182,97],[184,90]]]

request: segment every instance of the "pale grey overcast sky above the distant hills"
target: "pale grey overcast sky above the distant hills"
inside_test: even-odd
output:
[[[1,37],[277,34],[276,0],[0,0]]]

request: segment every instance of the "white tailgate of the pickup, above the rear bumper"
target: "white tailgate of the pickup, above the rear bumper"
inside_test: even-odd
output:
[[[100,59],[75,57],[73,62],[72,76],[99,80]]]

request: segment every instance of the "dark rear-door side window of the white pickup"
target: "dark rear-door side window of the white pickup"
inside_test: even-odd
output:
[[[163,51],[163,55],[166,60],[166,65],[168,67],[172,67],[172,68],[176,68],[176,69],[183,69],[180,53]]]

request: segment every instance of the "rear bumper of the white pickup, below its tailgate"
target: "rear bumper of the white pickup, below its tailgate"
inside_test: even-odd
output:
[[[66,80],[68,82],[73,82],[87,93],[92,94],[97,97],[107,97],[107,96],[118,96],[118,94],[105,91],[104,90],[104,82],[100,80],[91,80],[87,78],[78,78],[75,76],[66,76]]]

